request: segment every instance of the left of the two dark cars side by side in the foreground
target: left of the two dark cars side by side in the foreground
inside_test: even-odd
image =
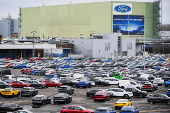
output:
[[[41,105],[45,105],[45,104],[51,104],[51,99],[45,95],[36,95],[33,97],[32,99],[32,104],[41,104]]]

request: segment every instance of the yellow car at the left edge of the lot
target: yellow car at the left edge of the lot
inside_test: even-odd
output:
[[[19,96],[20,95],[20,91],[19,90],[16,90],[15,88],[5,88],[3,90],[1,90],[1,95],[3,97],[5,96]]]

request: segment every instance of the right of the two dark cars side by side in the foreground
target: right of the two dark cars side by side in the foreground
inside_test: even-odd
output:
[[[54,104],[63,102],[65,104],[72,102],[72,96],[67,93],[59,93],[54,96],[53,99]]]

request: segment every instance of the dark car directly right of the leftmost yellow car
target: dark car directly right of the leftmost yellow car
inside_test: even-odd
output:
[[[38,90],[34,87],[24,87],[21,90],[21,97],[23,96],[35,96],[38,94]]]

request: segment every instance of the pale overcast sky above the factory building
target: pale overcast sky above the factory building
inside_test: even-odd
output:
[[[75,3],[87,3],[87,2],[101,2],[101,1],[140,1],[140,2],[153,2],[155,0],[0,0],[0,20],[6,18],[8,14],[12,18],[17,19],[19,17],[19,8],[24,7],[37,7],[49,5],[61,5],[61,4],[75,4]],[[170,24],[170,0],[162,0],[162,23]]]

